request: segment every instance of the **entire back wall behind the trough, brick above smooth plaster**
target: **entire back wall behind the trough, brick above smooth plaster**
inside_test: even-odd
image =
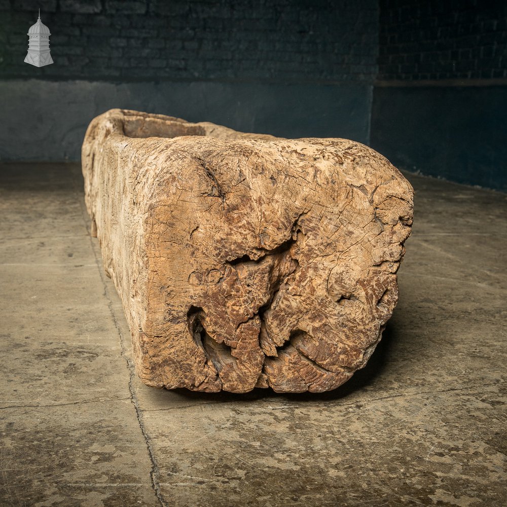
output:
[[[78,159],[112,107],[367,143],[377,51],[376,0],[0,0],[0,160]]]

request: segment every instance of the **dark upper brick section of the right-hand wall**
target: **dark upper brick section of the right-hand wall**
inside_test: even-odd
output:
[[[507,78],[507,1],[380,0],[379,80]]]

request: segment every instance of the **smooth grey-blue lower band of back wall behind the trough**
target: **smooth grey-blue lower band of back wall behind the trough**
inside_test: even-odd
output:
[[[282,137],[367,142],[373,87],[210,81],[0,83],[1,160],[79,160],[86,127],[112,107]]]

